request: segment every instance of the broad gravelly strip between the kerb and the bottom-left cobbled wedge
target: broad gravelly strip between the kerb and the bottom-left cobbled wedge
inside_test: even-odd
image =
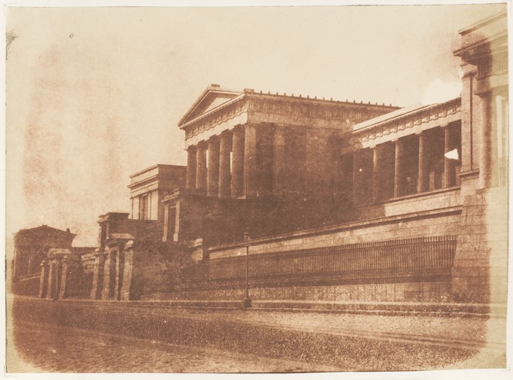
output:
[[[506,320],[496,315],[469,318],[187,308],[138,301],[20,301],[22,308],[13,321],[51,324],[57,320],[66,328],[82,327],[86,331],[94,330],[93,334],[131,335],[126,338],[149,339],[190,349],[212,348],[227,360],[230,358],[227,353],[231,352],[255,355],[264,362],[273,358],[281,363],[266,362],[263,368],[267,370],[253,367],[247,369],[248,372],[500,368],[506,365]],[[227,362],[214,372],[240,372],[233,368],[242,367],[235,360],[232,367]],[[114,372],[116,370],[114,368]]]

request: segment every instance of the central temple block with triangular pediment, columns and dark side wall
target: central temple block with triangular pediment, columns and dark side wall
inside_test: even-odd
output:
[[[207,88],[178,124],[188,189],[219,198],[338,191],[337,142],[396,107]]]

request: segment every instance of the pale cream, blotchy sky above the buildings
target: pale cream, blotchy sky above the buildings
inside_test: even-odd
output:
[[[457,97],[457,31],[505,4],[7,7],[6,233],[96,245],[129,175],[186,164],[178,120],[211,83],[406,107]]]

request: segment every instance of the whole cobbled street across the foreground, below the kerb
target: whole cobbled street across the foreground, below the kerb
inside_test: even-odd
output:
[[[18,299],[13,311],[10,373],[505,366],[502,318],[223,311],[35,299]]]

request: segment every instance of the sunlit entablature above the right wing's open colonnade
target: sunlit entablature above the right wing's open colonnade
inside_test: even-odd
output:
[[[413,111],[402,109],[353,125],[353,136],[361,147],[375,147],[383,142],[394,141],[406,135],[422,133],[461,120],[461,98],[449,100]]]

